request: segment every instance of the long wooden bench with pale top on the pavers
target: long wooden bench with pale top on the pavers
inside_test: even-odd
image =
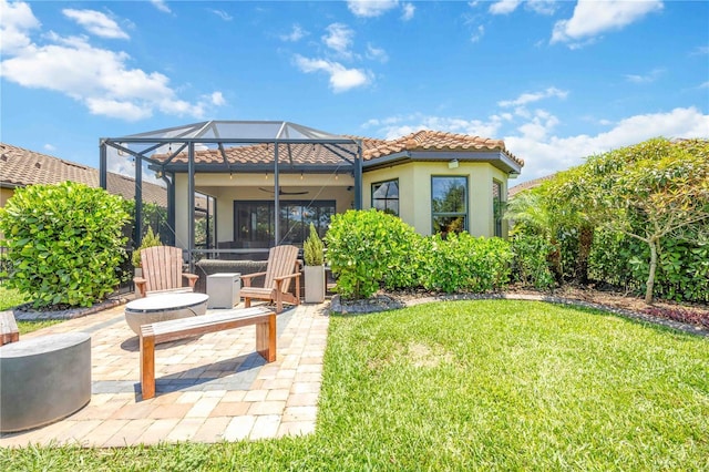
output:
[[[155,345],[256,325],[256,351],[267,362],[276,360],[276,314],[266,307],[242,308],[192,318],[158,321],[141,327],[141,390],[155,397]]]

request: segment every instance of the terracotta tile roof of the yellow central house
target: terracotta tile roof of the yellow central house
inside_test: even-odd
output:
[[[391,154],[405,151],[450,151],[450,152],[484,152],[500,151],[512,158],[520,166],[524,166],[524,161],[516,157],[505,147],[501,140],[490,140],[480,136],[465,134],[444,133],[440,131],[419,131],[398,140],[379,140],[372,137],[361,137],[346,135],[352,140],[360,140],[362,143],[362,156],[364,161],[377,161]],[[348,147],[339,145],[340,148]],[[339,164],[340,157],[333,152],[333,145],[315,144],[279,144],[279,163],[292,164]],[[353,151],[353,146],[349,146]],[[273,144],[251,144],[225,147],[224,154],[229,164],[264,164],[271,162],[274,155]],[[165,160],[167,155],[155,155],[156,160]],[[184,164],[187,162],[187,153],[183,152],[175,156],[173,163]],[[195,162],[199,164],[224,163],[222,153],[218,150],[197,151]]]

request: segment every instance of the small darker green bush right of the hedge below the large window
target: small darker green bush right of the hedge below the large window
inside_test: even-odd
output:
[[[517,234],[511,245],[512,274],[516,281],[542,290],[554,287],[554,274],[548,260],[553,247],[544,237]]]

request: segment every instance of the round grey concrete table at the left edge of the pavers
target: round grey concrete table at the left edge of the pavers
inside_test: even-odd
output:
[[[61,420],[91,401],[91,336],[65,332],[0,347],[0,432]]]

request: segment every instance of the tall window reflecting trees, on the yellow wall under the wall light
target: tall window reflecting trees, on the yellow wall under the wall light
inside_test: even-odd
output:
[[[431,219],[433,234],[467,229],[467,178],[431,177]]]

